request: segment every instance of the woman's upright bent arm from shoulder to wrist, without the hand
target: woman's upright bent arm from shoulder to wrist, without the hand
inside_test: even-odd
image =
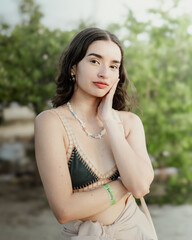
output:
[[[136,198],[149,193],[154,171],[146,149],[145,133],[140,118],[130,112],[123,113],[130,132],[125,136],[122,125],[114,118],[104,122],[109,143],[124,186]]]

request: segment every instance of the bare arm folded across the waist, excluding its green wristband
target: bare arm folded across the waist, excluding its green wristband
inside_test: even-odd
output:
[[[103,187],[73,193],[61,121],[51,111],[35,119],[35,155],[49,205],[58,222],[83,219],[110,207]],[[118,202],[127,194],[120,180],[110,183]]]

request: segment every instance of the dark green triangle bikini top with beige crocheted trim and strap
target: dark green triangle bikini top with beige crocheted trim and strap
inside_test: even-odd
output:
[[[114,166],[106,174],[101,174],[88,157],[82,152],[77,139],[72,134],[67,119],[63,116],[63,113],[57,108],[51,109],[51,111],[57,113],[69,138],[67,160],[73,192],[92,190],[116,180],[119,177],[117,167]]]

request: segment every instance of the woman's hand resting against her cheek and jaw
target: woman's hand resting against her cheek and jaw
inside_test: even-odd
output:
[[[119,80],[119,78],[116,80],[109,92],[102,98],[101,102],[99,103],[97,114],[102,122],[106,122],[108,119],[114,118],[112,103]]]

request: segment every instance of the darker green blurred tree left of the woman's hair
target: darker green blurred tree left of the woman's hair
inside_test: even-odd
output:
[[[61,51],[75,31],[51,31],[40,22],[42,13],[33,0],[21,1],[21,23],[12,31],[1,24],[0,101],[31,104],[42,111],[55,94],[55,71]]]

